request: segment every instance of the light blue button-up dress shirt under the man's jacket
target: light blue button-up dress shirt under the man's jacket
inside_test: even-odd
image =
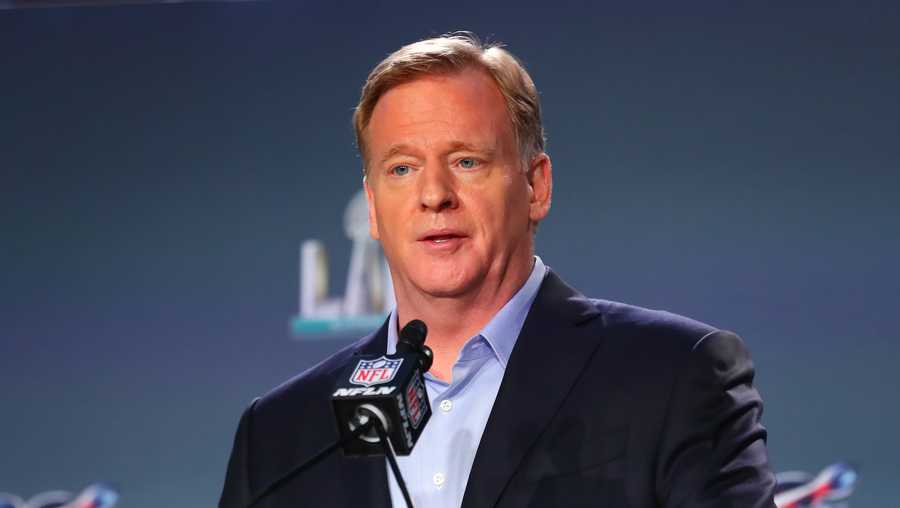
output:
[[[531,275],[490,322],[463,345],[448,384],[430,373],[425,388],[431,418],[413,452],[397,457],[406,488],[417,508],[459,508],[475,451],[503,380],[525,316],[537,296],[546,267],[534,257]],[[387,352],[397,346],[397,311],[388,323]],[[426,339],[427,344],[427,339]],[[406,508],[403,494],[388,468],[388,485],[394,508]]]

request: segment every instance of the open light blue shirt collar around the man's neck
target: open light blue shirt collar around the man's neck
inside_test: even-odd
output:
[[[476,337],[479,335],[484,337],[503,368],[506,368],[506,362],[512,354],[516,339],[519,338],[519,332],[522,331],[522,326],[525,324],[525,317],[528,315],[528,310],[537,296],[546,273],[547,268],[543,261],[540,257],[535,256],[534,266],[528,280],[476,335]],[[397,350],[397,330],[397,309],[395,308],[391,311],[388,321],[388,354],[393,354]]]

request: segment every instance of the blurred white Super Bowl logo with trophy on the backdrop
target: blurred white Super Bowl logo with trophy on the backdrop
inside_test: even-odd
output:
[[[315,239],[300,246],[300,312],[291,320],[294,337],[371,331],[394,306],[394,287],[378,242],[369,236],[366,196],[359,191],[344,211],[344,233],[352,243],[347,284],[329,295],[325,245]]]

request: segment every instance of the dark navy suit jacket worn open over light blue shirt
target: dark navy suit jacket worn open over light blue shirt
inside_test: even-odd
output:
[[[337,440],[336,376],[355,355],[383,354],[386,337],[385,324],[247,408],[220,508],[245,508]],[[507,365],[463,507],[774,507],[752,382],[737,335],[585,298],[548,271]],[[260,506],[388,508],[384,458],[336,453]]]

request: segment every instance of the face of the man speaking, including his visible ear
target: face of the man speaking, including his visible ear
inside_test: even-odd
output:
[[[532,221],[550,207],[550,163],[541,154],[523,167],[490,76],[473,69],[392,88],[365,136],[370,232],[398,296],[478,294],[508,270],[530,269]]]

